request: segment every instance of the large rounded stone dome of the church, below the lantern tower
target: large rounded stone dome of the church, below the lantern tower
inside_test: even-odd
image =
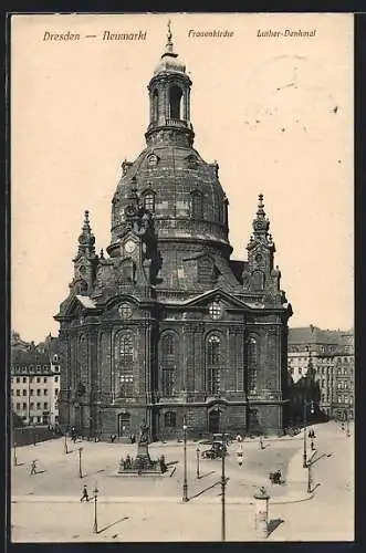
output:
[[[163,143],[123,164],[123,173],[113,199],[112,244],[125,232],[125,209],[135,190],[153,212],[158,240],[229,247],[227,199],[216,163],[206,163],[192,147]]]

